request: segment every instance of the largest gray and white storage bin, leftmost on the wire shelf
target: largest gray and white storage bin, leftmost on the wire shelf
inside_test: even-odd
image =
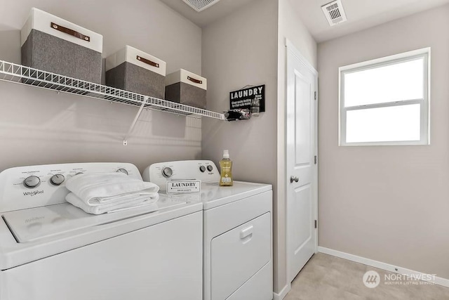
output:
[[[21,41],[22,65],[101,84],[101,34],[32,8]]]

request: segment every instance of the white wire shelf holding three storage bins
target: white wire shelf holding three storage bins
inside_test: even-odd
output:
[[[210,110],[203,110],[198,107],[140,95],[138,93],[115,89],[101,84],[94,84],[92,82],[62,76],[60,74],[37,70],[24,65],[8,63],[4,60],[0,60],[0,80],[107,100],[112,103],[121,103],[136,107],[143,106],[144,108],[151,110],[170,112],[177,115],[197,115],[226,120],[225,115],[220,112],[211,112]]]

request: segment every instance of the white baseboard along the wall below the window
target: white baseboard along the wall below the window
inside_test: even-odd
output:
[[[365,257],[356,256],[356,255],[345,253],[345,252],[340,252],[340,251],[337,251],[334,249],[318,247],[318,251],[321,253],[324,253],[324,254],[329,254],[332,256],[340,257],[340,259],[347,259],[349,261],[355,261],[356,263],[363,263],[364,265],[367,265],[367,266],[372,266],[375,268],[380,268],[382,270],[387,270],[392,273],[398,273],[398,274],[402,274],[402,275],[411,275],[411,276],[424,275],[424,273],[422,273],[422,272],[417,272],[415,270],[401,268],[398,266],[390,265],[389,263],[382,263],[381,261],[375,261],[373,259],[366,259]],[[449,287],[449,279],[435,276],[435,280],[429,280],[429,282],[435,283],[436,285],[442,285],[443,287]]]

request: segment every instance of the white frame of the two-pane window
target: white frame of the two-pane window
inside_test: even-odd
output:
[[[416,58],[424,58],[424,91],[422,99],[408,99],[389,103],[377,103],[370,105],[358,105],[353,107],[344,107],[344,74],[351,72],[358,72],[362,70],[369,70],[375,67],[383,67],[387,65],[394,65],[396,63],[403,63]],[[396,54],[394,56],[387,56],[375,60],[368,60],[363,63],[356,63],[353,65],[346,65],[338,69],[338,105],[339,105],[339,131],[338,141],[340,146],[361,146],[361,145],[430,145],[430,48],[422,48],[415,51],[408,51],[406,53]],[[384,142],[346,142],[346,117],[349,110],[365,110],[368,108],[377,107],[391,107],[399,105],[420,104],[421,112],[421,133],[420,141],[384,141]]]

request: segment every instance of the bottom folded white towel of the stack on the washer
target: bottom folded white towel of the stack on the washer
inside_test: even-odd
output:
[[[126,197],[123,197],[123,199],[121,199],[120,196],[116,196],[116,201],[114,202],[107,202],[105,204],[100,204],[100,202],[95,204],[88,204],[81,200],[79,197],[76,197],[74,193],[69,193],[65,197],[65,200],[67,200],[67,202],[74,205],[75,207],[83,209],[83,211],[86,211],[88,214],[105,214],[116,211],[123,211],[126,209],[145,207],[151,204],[153,204],[154,207],[149,211],[156,211],[159,209],[155,204],[158,199],[159,194],[157,193],[133,193],[126,195]]]

